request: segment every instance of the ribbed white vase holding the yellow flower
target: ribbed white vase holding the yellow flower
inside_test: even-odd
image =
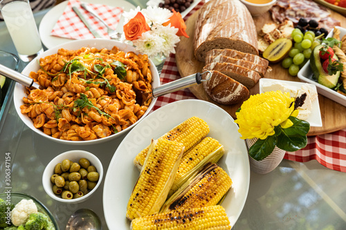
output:
[[[247,139],[246,144],[248,145],[248,148],[253,146],[253,144],[255,144],[256,141],[257,138]],[[253,157],[248,155],[251,171],[260,174],[265,174],[273,171],[282,162],[285,153],[286,151],[275,146],[273,152],[263,160],[255,160],[253,159]]]

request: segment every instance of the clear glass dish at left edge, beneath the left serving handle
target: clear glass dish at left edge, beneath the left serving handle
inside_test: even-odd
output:
[[[18,70],[19,66],[19,59],[16,55],[6,52],[3,50],[0,50],[0,64],[3,66],[6,66],[8,68],[12,68],[12,70]],[[1,80],[0,80],[1,82]],[[10,99],[10,95],[13,91],[15,83],[11,80],[6,78],[5,84],[3,87],[1,87],[0,90],[0,124],[2,124],[3,115],[6,114],[6,105],[8,104],[8,101]],[[0,125],[1,130],[1,125]]]

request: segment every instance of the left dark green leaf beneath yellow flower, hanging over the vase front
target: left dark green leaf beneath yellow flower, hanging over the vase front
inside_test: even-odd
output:
[[[258,139],[251,148],[248,150],[248,154],[255,160],[263,160],[270,155],[276,145],[276,135],[266,137],[266,139]]]

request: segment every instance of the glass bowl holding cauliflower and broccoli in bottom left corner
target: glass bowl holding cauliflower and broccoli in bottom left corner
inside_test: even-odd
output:
[[[0,198],[3,199],[4,201],[9,200],[8,199],[8,193],[0,193]],[[10,192],[10,202],[12,204],[17,204],[19,203],[21,200],[26,199],[26,200],[33,200],[33,202],[36,204],[37,206],[37,211],[39,211],[40,213],[44,213],[45,215],[48,216],[49,220],[51,220],[51,222],[53,223],[53,226],[55,227],[55,230],[59,230],[59,226],[57,225],[57,222],[55,220],[55,218],[53,217],[51,211],[49,211],[44,204],[42,204],[42,202],[40,202],[39,200],[37,200],[36,198],[34,198],[31,195],[28,195],[26,193],[17,193],[17,192]]]

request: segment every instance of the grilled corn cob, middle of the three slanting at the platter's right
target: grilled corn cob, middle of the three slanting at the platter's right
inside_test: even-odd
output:
[[[207,163],[217,163],[222,155],[224,155],[224,146],[212,137],[205,137],[201,142],[190,148],[181,158],[168,195],[172,195],[189,178],[197,175]]]

